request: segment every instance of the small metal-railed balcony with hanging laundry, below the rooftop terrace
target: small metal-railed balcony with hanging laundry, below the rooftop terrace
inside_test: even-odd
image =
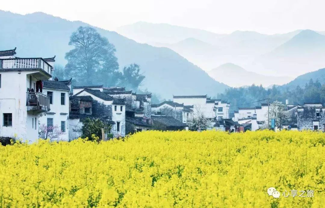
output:
[[[42,92],[26,92],[27,110],[44,113],[50,110],[50,98]]]

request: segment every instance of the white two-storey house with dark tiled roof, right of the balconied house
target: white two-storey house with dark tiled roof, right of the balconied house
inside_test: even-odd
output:
[[[57,126],[62,135],[56,140],[69,141],[69,91],[71,89],[71,79],[59,81],[43,81],[43,93],[50,98],[50,111],[39,118],[40,125]]]

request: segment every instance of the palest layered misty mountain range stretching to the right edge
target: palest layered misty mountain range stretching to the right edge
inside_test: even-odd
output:
[[[204,30],[168,24],[136,22],[117,28],[118,33],[142,43],[173,49],[190,62],[209,72],[225,63],[233,63],[250,73],[247,80],[260,75],[278,76],[285,84],[293,78],[325,66],[325,32],[296,30],[265,35],[251,31],[215,34]],[[211,73],[210,73],[211,74]],[[233,75],[240,80],[242,74]],[[218,80],[218,79],[216,79]],[[230,86],[230,81],[224,81]],[[250,85],[252,82],[244,82]],[[262,83],[265,87],[267,82]]]

